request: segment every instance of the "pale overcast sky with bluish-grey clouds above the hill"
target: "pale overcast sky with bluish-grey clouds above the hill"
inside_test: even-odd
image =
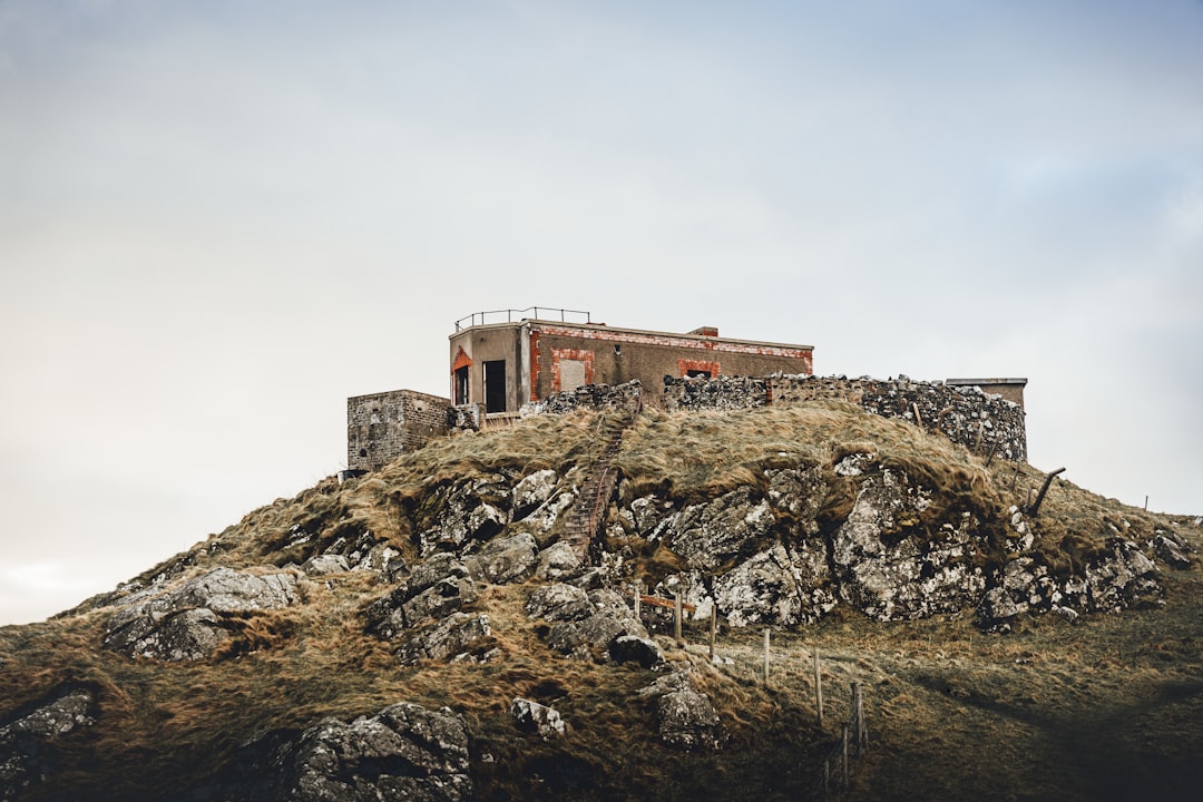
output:
[[[0,0],[0,624],[345,467],[533,304],[1026,376],[1203,513],[1203,2]]]

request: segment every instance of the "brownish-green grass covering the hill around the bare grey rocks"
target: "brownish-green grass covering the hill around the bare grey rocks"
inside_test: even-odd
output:
[[[261,507],[51,620],[0,628],[0,732],[65,688],[85,688],[95,700],[87,726],[37,742],[45,777],[13,798],[229,798],[245,771],[239,761],[248,744],[399,701],[463,717],[480,800],[822,798],[823,759],[847,720],[853,681],[863,683],[870,747],[847,798],[1193,798],[1203,786],[1197,559],[1175,570],[1154,558],[1161,599],[1119,612],[1086,611],[1074,620],[1017,616],[1006,634],[984,631],[971,605],[876,620],[838,604],[814,623],[770,622],[768,684],[764,624],[730,626],[722,608],[715,663],[705,622],[687,623],[687,646],[680,648],[664,613],[647,608],[645,623],[664,653],[658,670],[605,655],[565,657],[549,647],[549,625],[526,607],[550,582],[534,576],[478,582],[464,610],[491,623],[487,652],[474,653],[481,661],[399,660],[397,643],[367,624],[367,611],[434,553],[452,548],[431,546],[426,533],[443,525],[454,488],[475,481],[509,492],[538,471],[555,471],[564,487],[579,485],[602,456],[604,424],[593,414],[549,415],[434,442],[360,480],[326,480]],[[858,463],[861,473],[836,470],[855,455],[867,455]],[[949,530],[948,522],[972,519],[982,543],[973,566],[984,577],[1017,553],[1053,577],[1073,576],[1106,556],[1116,536],[1144,547],[1157,533],[1172,533],[1196,552],[1203,546],[1190,518],[1124,506],[1062,480],[1025,521],[1031,542],[1017,546],[1012,507],[1039,487],[1041,471],[998,459],[986,465],[914,426],[840,403],[651,412],[627,432],[615,465],[622,480],[606,510],[599,560],[605,570],[589,581],[628,601],[635,581],[663,588],[669,577],[693,570],[664,537],[632,523],[639,499],[654,497],[681,511],[735,491],[769,498],[782,470],[812,481],[805,509],[775,509],[766,534],[707,571],[722,574],[754,551],[792,547],[790,539],[804,535],[808,542],[830,540],[847,524],[866,477],[884,474],[908,477],[925,501],[918,512],[897,516],[882,537],[919,541]],[[479,495],[488,500],[492,492]],[[565,518],[552,516],[544,529],[532,529],[539,548],[555,543]],[[481,537],[522,525],[482,528],[487,535],[454,547],[469,554]],[[318,575],[298,568],[316,554],[366,553],[369,546],[398,554],[393,569]],[[397,570],[402,560],[405,568]],[[296,577],[300,599],[220,616],[224,640],[202,659],[131,658],[106,648],[114,611],[138,593],[218,566],[253,575],[283,570]],[[828,702],[823,727],[814,711],[814,650]],[[658,676],[686,669],[721,719],[725,737],[717,749],[665,744],[654,699],[639,693]],[[568,731],[546,739],[522,731],[510,715],[515,697],[555,707]],[[0,737],[0,782],[8,771],[4,744]]]

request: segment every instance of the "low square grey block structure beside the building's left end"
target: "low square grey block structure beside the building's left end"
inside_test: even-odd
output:
[[[413,390],[346,399],[346,467],[378,470],[448,433],[451,402]]]

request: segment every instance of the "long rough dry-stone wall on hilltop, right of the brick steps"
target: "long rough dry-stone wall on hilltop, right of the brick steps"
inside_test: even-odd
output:
[[[805,375],[664,378],[668,410],[748,409],[819,398],[847,400],[875,415],[914,422],[982,453],[1012,461],[1027,458],[1024,410],[978,387],[912,381],[906,376],[891,381]]]

